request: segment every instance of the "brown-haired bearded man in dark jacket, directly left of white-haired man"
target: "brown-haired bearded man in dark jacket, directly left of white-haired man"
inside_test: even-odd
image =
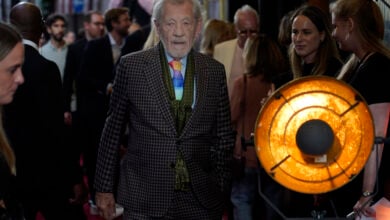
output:
[[[92,202],[96,154],[107,116],[114,64],[121,54],[131,25],[128,8],[109,9],[104,14],[104,23],[108,33],[102,38],[90,40],[85,47],[77,88],[77,108],[82,119],[82,132],[87,140],[83,150],[84,166]]]

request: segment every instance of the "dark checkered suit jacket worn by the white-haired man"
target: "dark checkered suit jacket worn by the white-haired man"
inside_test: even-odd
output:
[[[158,46],[122,57],[98,153],[95,187],[115,192],[121,135],[129,139],[120,164],[117,202],[150,216],[163,216],[174,195],[177,147],[183,149],[191,186],[208,209],[222,206],[230,187],[234,135],[224,67],[195,52],[196,100],[177,137]]]

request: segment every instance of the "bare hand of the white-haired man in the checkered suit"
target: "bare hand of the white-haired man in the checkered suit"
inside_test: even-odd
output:
[[[112,220],[116,217],[114,194],[96,192],[96,206],[99,215],[105,220]]]

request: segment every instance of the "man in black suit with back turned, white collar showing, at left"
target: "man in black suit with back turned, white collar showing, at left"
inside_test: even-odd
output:
[[[40,9],[28,2],[16,4],[10,21],[23,35],[25,83],[4,107],[4,128],[17,158],[18,193],[26,220],[41,212],[46,220],[69,216],[72,186],[70,161],[63,146],[63,95],[57,65],[38,52],[44,24]],[[68,163],[69,162],[69,163]]]

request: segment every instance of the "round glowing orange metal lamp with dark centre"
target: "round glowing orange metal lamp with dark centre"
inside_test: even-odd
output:
[[[303,77],[276,90],[254,131],[265,171],[286,188],[307,194],[350,182],[374,144],[365,100],[348,84],[326,76]]]

